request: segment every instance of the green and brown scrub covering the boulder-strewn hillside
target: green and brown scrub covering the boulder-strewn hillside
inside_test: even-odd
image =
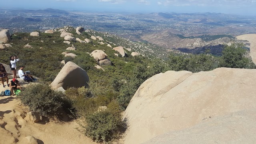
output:
[[[12,47],[0,51],[0,62],[9,64],[9,56],[19,56],[20,61],[17,63],[17,67],[24,65],[26,66],[25,70],[30,70],[32,74],[40,78],[40,88],[44,92],[38,91],[38,86],[31,88],[28,86],[20,94],[25,105],[30,106],[30,109],[34,111],[41,112],[44,116],[59,114],[57,112],[59,108],[71,111],[74,118],[81,119],[79,121],[80,131],[97,142],[112,142],[113,139],[120,138],[121,132],[126,129],[126,122],[122,121],[121,112],[128,106],[138,87],[155,74],[167,70],[209,71],[217,67],[256,68],[248,58],[247,50],[243,49],[240,44],[225,46],[223,55],[220,57],[214,57],[208,54],[208,51],[200,55],[170,53],[168,59],[164,61],[153,58],[152,55],[150,58],[142,55],[133,57],[131,53],[138,52],[138,49],[134,47],[127,47],[132,49],[132,51],[126,50],[127,57],[122,57],[120,54],[115,56],[114,53],[118,52],[112,48],[120,46],[121,42],[124,42],[121,41],[122,38],[108,37],[106,34],[92,31],[82,32],[82,35],[78,35],[74,28],[67,28],[75,38],[81,40],[88,38],[90,42],[71,41],[71,44],[66,44],[63,42],[64,38],[60,37],[60,32],[53,34],[39,32],[40,36],[15,33],[11,36]],[[106,42],[112,48],[107,44],[100,44],[97,40],[92,40],[91,35],[101,36],[104,40],[108,40]],[[33,48],[24,48],[26,44],[30,44]],[[75,51],[66,50],[72,45],[76,48]],[[126,44],[122,43],[122,45]],[[104,50],[113,66],[102,66],[104,71],[97,69],[95,67],[97,62],[88,54],[94,50]],[[77,56],[75,58],[64,57],[62,52],[66,51]],[[147,50],[141,49],[141,52],[143,51]],[[50,99],[49,96],[53,92],[47,85],[54,80],[63,67],[62,60],[72,61],[84,69],[90,79],[89,86],[68,88],[65,95],[56,93],[61,98]],[[36,95],[38,99],[28,98],[29,93]],[[32,95],[29,96],[32,97]],[[54,104],[44,102],[44,98],[52,100]],[[36,106],[36,104],[41,105],[40,102],[44,102],[45,107]],[[105,106],[106,110],[104,110]],[[45,112],[47,109],[52,110]]]

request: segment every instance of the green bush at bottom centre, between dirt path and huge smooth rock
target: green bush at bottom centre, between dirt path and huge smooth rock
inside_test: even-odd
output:
[[[125,126],[117,102],[108,104],[106,110],[88,114],[85,120],[84,133],[96,142],[110,142],[118,138],[120,128]]]

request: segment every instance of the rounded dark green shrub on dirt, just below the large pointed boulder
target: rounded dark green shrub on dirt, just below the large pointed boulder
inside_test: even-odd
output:
[[[71,108],[70,101],[62,92],[54,91],[48,84],[30,84],[19,94],[19,98],[31,111],[42,116],[57,116]]]

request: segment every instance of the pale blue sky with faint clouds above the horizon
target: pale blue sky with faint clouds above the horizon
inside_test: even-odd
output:
[[[0,0],[0,8],[87,12],[216,12],[256,16],[256,0]]]

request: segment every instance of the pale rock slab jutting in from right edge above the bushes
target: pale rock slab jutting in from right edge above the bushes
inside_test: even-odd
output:
[[[252,62],[256,64],[256,34],[243,34],[236,36],[238,40],[248,40],[250,42],[250,56],[252,57]]]

